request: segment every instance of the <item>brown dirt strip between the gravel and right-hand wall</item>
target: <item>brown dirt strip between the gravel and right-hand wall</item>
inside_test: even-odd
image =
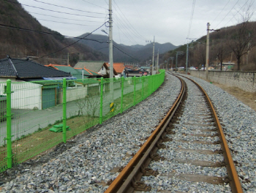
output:
[[[222,90],[227,91],[227,93],[235,96],[236,99],[244,102],[245,105],[248,105],[250,108],[256,111],[256,93],[246,92],[237,87],[225,86],[219,83],[213,83],[215,86],[222,88]]]

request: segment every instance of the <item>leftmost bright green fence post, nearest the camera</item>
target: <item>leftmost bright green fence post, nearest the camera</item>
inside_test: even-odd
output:
[[[7,94],[7,167],[12,168],[12,81],[7,80],[6,89],[4,94]]]

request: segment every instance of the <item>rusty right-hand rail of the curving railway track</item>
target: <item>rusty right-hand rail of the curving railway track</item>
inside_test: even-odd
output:
[[[206,91],[204,91],[203,88],[198,83],[196,83],[194,80],[190,79],[189,77],[186,77],[186,78],[191,80],[193,83],[195,83],[195,85],[198,88],[200,88],[200,90],[206,96],[208,105],[211,108],[211,113],[214,116],[215,124],[217,125],[217,130],[219,132],[219,138],[220,138],[220,141],[221,141],[220,144],[222,146],[223,156],[224,156],[226,167],[227,167],[227,174],[230,177],[231,190],[232,190],[233,193],[242,193],[243,189],[242,189],[241,183],[240,183],[239,178],[238,178],[238,173],[236,171],[236,167],[235,167],[235,164],[233,162],[233,159],[232,159],[232,156],[231,156],[231,153],[230,153],[230,149],[228,148],[227,140],[225,138],[225,134],[223,132],[222,126],[219,123],[219,118],[217,116],[216,111],[214,110],[214,105],[212,105],[211,99],[209,98],[208,94],[206,94]]]

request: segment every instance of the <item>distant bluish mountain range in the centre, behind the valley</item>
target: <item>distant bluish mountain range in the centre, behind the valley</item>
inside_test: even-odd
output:
[[[80,35],[80,38],[86,37],[88,33]],[[100,51],[108,55],[108,36],[100,34],[90,34],[86,39],[80,41],[81,44],[89,46],[90,48]],[[159,44],[155,42],[154,49],[157,55],[159,53],[166,53],[173,50],[177,46],[171,43]],[[123,45],[113,41],[113,58],[115,62],[138,62],[151,59],[153,52],[153,43],[147,45]]]

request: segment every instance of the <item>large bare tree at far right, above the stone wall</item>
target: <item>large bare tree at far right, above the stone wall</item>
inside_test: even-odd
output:
[[[250,12],[249,5],[244,15],[241,15],[242,22],[234,27],[233,34],[229,37],[228,45],[236,56],[238,70],[241,69],[241,57],[256,45],[255,38],[253,38],[255,30],[252,27],[252,23],[249,22],[252,14],[253,12]]]

